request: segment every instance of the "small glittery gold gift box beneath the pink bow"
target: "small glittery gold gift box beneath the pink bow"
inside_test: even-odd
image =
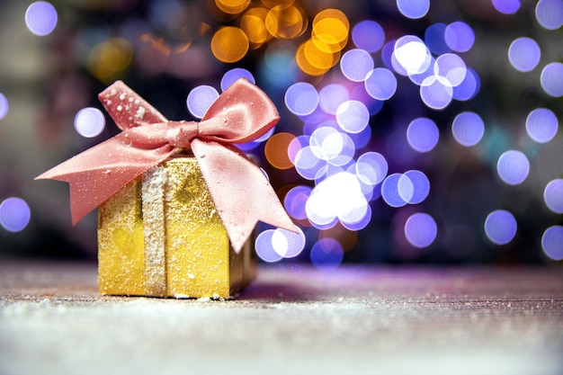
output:
[[[253,238],[237,254],[200,167],[176,157],[98,210],[102,294],[228,298],[255,278]]]

